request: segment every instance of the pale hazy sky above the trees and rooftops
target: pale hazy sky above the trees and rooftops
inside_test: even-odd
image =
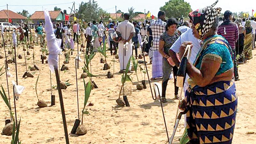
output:
[[[68,7],[72,7],[72,2],[75,1],[75,7],[78,8],[79,4],[81,4],[82,0],[11,0],[11,1],[0,1],[0,10],[7,9],[6,4],[8,4],[9,10],[14,12],[21,12],[22,9],[28,10],[30,14],[35,11],[42,11],[47,8],[48,10],[53,10],[54,6],[60,7],[62,10],[66,9],[68,13],[70,10]],[[83,0],[84,2],[88,2],[89,0]],[[129,7],[135,8],[135,12],[146,12],[150,11],[151,14],[157,16],[159,8],[165,4],[168,0],[95,0],[98,2],[99,6],[110,12],[115,13],[115,6],[117,6],[117,10],[121,10],[122,12],[128,12]],[[215,0],[185,0],[191,5],[193,10],[211,5],[215,2]],[[62,3],[62,4],[61,4]],[[70,3],[70,4],[63,4]],[[58,4],[58,5],[46,5],[46,4]],[[254,4],[254,5],[253,5]],[[12,5],[23,5],[23,6],[12,6]],[[25,6],[25,5],[43,5],[43,6]],[[2,7],[1,7],[2,6]],[[222,13],[226,10],[230,10],[231,12],[249,12],[252,14],[252,9],[256,12],[256,2],[254,0],[219,0],[219,3],[216,5],[222,8]]]

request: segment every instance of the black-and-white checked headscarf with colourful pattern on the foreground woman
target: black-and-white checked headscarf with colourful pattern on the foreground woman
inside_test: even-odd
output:
[[[197,9],[196,11],[189,13],[189,18],[195,25],[201,39],[210,31],[215,22],[216,17],[220,14],[221,8],[213,8],[218,3],[217,0],[211,6],[203,9]]]

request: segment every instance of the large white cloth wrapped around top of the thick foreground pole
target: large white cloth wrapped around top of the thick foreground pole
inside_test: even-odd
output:
[[[61,52],[60,46],[58,45],[57,38],[53,32],[52,21],[47,9],[44,10],[45,20],[45,34],[47,47],[49,51],[48,65],[50,70],[54,72],[54,67],[58,67],[58,54]]]

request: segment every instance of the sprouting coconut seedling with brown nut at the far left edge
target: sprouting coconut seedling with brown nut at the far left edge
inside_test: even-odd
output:
[[[4,88],[3,88],[2,85],[1,85],[1,87],[2,87],[2,91],[0,90],[0,94],[2,96],[2,99],[4,100],[4,103],[7,105],[8,109],[9,109],[11,120],[14,121],[14,116],[13,116],[13,113],[12,113],[12,109],[11,109],[10,103],[8,101],[8,98],[7,98],[7,96],[6,96],[5,92],[4,92]],[[11,123],[6,124],[4,126],[4,128],[3,128],[2,134],[3,135],[7,135],[7,136],[12,135],[12,126],[13,125]]]

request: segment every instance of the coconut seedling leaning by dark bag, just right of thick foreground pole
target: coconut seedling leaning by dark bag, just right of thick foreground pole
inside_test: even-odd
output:
[[[85,81],[84,81],[84,108],[82,110],[82,124],[77,127],[77,130],[76,130],[77,135],[84,135],[87,133],[86,126],[85,124],[83,124],[83,119],[84,119],[84,114],[86,115],[89,114],[89,112],[87,111],[87,109],[85,109],[85,107],[90,97],[91,91],[92,91],[91,80],[89,80],[87,84],[85,84]]]

